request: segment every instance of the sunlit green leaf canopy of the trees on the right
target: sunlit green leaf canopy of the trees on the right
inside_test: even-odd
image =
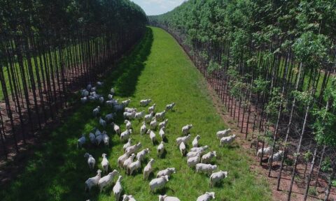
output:
[[[314,129],[319,144],[336,146],[336,91],[331,90],[336,86],[325,90],[330,80],[325,84],[323,79],[335,67],[335,1],[189,0],[149,19],[187,38],[190,48],[202,57],[204,50],[211,58],[216,54],[209,51],[211,47],[223,47],[230,94],[240,98],[241,89],[247,87],[244,83],[252,82],[248,87],[265,108],[267,124],[274,124],[277,114],[286,114],[291,102],[295,106],[292,122],[302,125],[297,117],[309,109],[305,131]],[[246,74],[253,80],[246,79]],[[323,99],[323,91],[327,98]],[[323,111],[325,103],[330,108]]]

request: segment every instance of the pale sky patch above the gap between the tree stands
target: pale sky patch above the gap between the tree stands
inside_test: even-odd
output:
[[[147,15],[160,15],[180,6],[186,0],[131,0],[145,10]]]

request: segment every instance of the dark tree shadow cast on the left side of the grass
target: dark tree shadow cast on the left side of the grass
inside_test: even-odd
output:
[[[148,28],[144,38],[134,46],[129,56],[123,58],[113,73],[106,76],[105,88],[99,89],[99,93],[107,95],[108,86],[114,85],[118,95],[132,96],[152,43],[153,33]],[[98,124],[97,119],[92,118],[92,108],[96,106],[97,103],[79,105],[78,110],[64,118],[57,129],[43,131],[41,144],[32,148],[34,155],[22,161],[25,169],[9,185],[1,186],[1,200],[97,200],[99,189],[92,188],[90,193],[85,193],[85,181],[94,177],[97,169],[101,169],[102,153],[109,153],[111,148],[92,147],[87,136],[85,146],[76,149],[81,133],[90,133],[92,125]],[[121,121],[122,117],[119,117],[117,122]],[[112,128],[106,128],[106,131],[112,133]],[[119,142],[115,139],[114,143]],[[85,152],[96,159],[94,171],[90,171],[83,157]],[[114,168],[116,164],[111,164],[109,172]],[[102,174],[102,177],[105,175]]]

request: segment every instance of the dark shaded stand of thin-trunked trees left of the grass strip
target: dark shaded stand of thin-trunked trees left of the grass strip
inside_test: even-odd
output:
[[[0,156],[19,152],[57,119],[78,84],[111,70],[146,22],[128,0],[1,0]]]

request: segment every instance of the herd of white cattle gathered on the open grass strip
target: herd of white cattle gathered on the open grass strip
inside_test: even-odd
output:
[[[101,87],[104,83],[97,82],[97,87]],[[167,112],[173,111],[175,103],[171,103],[166,105],[166,108],[162,112],[155,112],[156,105],[153,104],[148,107],[148,114],[144,111],[138,112],[137,108],[128,107],[130,103],[130,99],[125,101],[119,101],[118,99],[114,99],[115,90],[112,88],[110,90],[110,94],[107,96],[107,101],[104,100],[104,96],[97,94],[97,87],[93,87],[92,84],[88,84],[86,89],[81,90],[81,103],[85,104],[88,101],[99,103],[100,105],[106,104],[111,108],[111,113],[106,114],[105,118],[101,117],[102,113],[101,107],[97,106],[92,110],[92,114],[94,117],[99,117],[99,124],[102,128],[106,128],[106,126],[111,126],[113,128],[114,133],[120,136],[120,143],[125,143],[123,146],[123,151],[125,154],[118,158],[116,163],[118,164],[118,168],[120,170],[125,169],[125,172],[128,176],[132,176],[135,172],[139,172],[141,169],[141,163],[144,162],[146,155],[148,155],[150,148],[141,149],[141,142],[136,144],[132,144],[131,136],[134,135],[134,131],[132,130],[132,121],[138,120],[143,121],[141,128],[139,128],[140,135],[149,136],[151,142],[153,143],[153,147],[158,142],[158,137],[156,135],[156,131],[159,131],[160,142],[158,146],[155,148],[158,154],[158,159],[150,158],[148,164],[144,167],[142,171],[144,174],[144,180],[148,180],[149,175],[153,172],[153,165],[155,164],[155,160],[160,160],[162,158],[162,154],[165,152],[165,133],[168,126],[168,119],[165,119]],[[151,104],[151,99],[141,100],[139,103],[140,107],[147,107]],[[123,114],[125,119],[125,131],[120,131],[120,126],[113,123],[113,120],[116,119],[118,114]],[[197,135],[192,142],[192,148],[190,151],[186,150],[186,145],[190,141],[191,135],[190,130],[193,128],[192,124],[188,124],[183,126],[181,129],[181,137],[176,139],[177,148],[181,152],[182,156],[186,156],[186,162],[189,168],[195,169],[195,172],[202,172],[204,174],[210,175],[210,184],[209,186],[212,188],[218,182],[222,181],[225,177],[228,177],[228,172],[223,170],[217,171],[217,165],[211,165],[211,161],[213,158],[216,158],[216,151],[209,151],[207,154],[205,151],[209,149],[208,145],[203,147],[199,147],[198,141],[201,139],[200,135]],[[233,140],[235,140],[236,135],[229,135],[231,132],[230,128],[224,131],[218,131],[216,133],[216,137],[220,140],[220,147],[223,147],[225,144],[230,144]],[[132,134],[133,133],[133,134]],[[215,137],[215,136],[214,136]],[[88,138],[88,140],[86,140]],[[104,144],[104,146],[109,147],[110,137],[106,131],[99,131],[98,128],[94,128],[92,132],[88,135],[83,134],[77,142],[77,147],[82,148],[85,143],[91,143],[95,146],[99,146],[99,144]],[[84,148],[84,147],[83,147]],[[96,160],[89,153],[85,153],[84,158],[86,158],[87,165],[90,170],[94,170]],[[135,160],[136,159],[136,160]],[[90,177],[85,181],[85,191],[90,191],[92,187],[97,186],[99,190],[102,192],[104,188],[107,186],[111,186],[117,178],[119,172],[118,170],[113,170],[109,172],[109,160],[107,159],[107,155],[102,154],[102,163],[101,169],[97,170],[97,174],[94,177]],[[160,170],[156,174],[156,178],[152,179],[149,182],[148,191],[156,191],[159,188],[163,188],[167,182],[169,182],[172,174],[176,173],[176,168],[166,168],[165,170]],[[102,177],[102,174],[105,174]],[[113,186],[113,194],[115,195],[116,201],[123,199],[123,201],[127,200],[135,200],[133,195],[126,195],[123,193],[123,185],[122,185],[123,176],[118,176],[117,181]],[[158,195],[159,201],[178,201],[179,198],[171,197],[167,195]],[[197,201],[207,201],[215,198],[214,192],[206,192],[203,195],[200,195],[197,198]]]

